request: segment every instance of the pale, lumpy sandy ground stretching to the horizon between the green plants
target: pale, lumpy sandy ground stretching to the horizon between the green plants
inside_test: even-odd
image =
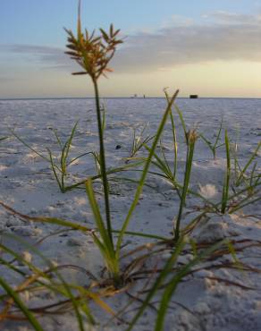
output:
[[[107,165],[124,165],[124,157],[130,155],[133,129],[138,132],[147,123],[146,134],[156,132],[157,123],[164,111],[164,99],[105,99],[107,108],[105,148]],[[209,140],[214,140],[221,117],[224,127],[228,129],[232,143],[238,143],[238,157],[244,165],[251,152],[257,147],[261,136],[261,100],[259,99],[179,99],[178,105],[183,111],[189,128],[196,127]],[[72,142],[72,157],[81,153],[97,150],[96,115],[92,99],[88,100],[24,100],[0,101],[0,135],[10,136],[0,142],[0,200],[29,216],[57,216],[93,227],[93,216],[88,206],[88,199],[82,190],[61,193],[46,160],[38,157],[21,141],[11,137],[8,128],[14,130],[30,146],[47,156],[46,148],[52,149],[58,156],[58,146],[52,129],[57,129],[61,140],[70,134],[73,123],[79,120],[75,139]],[[184,171],[186,148],[178,122],[179,173],[181,180]],[[164,151],[173,164],[171,124],[167,123],[164,131]],[[118,147],[117,147],[118,145]],[[117,148],[116,148],[117,147]],[[158,149],[159,150],[159,149]],[[140,156],[141,154],[139,154]],[[257,172],[260,174],[260,152],[256,158]],[[206,143],[198,140],[190,188],[206,197],[218,201],[221,197],[225,166],[225,150],[217,149],[214,160]],[[80,158],[70,166],[68,182],[80,181],[90,174],[95,174],[93,158]],[[139,179],[139,172],[129,172],[124,176]],[[160,177],[148,176],[142,199],[135,211],[129,230],[169,236],[173,229],[173,218],[177,215],[179,198],[169,182]],[[114,228],[120,228],[124,215],[135,193],[135,184],[130,182],[111,182],[111,204]],[[96,186],[97,192],[100,186]],[[259,192],[260,195],[260,192]],[[102,196],[97,194],[101,201]],[[195,210],[198,199],[189,196],[186,212]],[[197,211],[195,211],[197,213]],[[193,214],[196,215],[196,214]],[[224,267],[232,262],[230,254],[220,259],[207,261],[195,267],[199,269],[186,276],[173,295],[173,302],[165,320],[165,330],[177,331],[257,331],[261,330],[261,204],[257,202],[229,216],[208,214],[205,222],[199,224],[192,233],[196,242],[215,242],[230,238],[237,248],[248,248],[237,253],[238,259],[253,270]],[[189,221],[183,220],[182,225]],[[15,233],[24,240],[35,243],[50,233],[61,230],[56,225],[42,225],[21,220],[4,208],[0,209],[0,230],[2,242],[9,243],[16,250],[26,251],[21,244],[5,239],[4,233]],[[139,237],[126,237],[124,251],[131,250],[144,242]],[[67,232],[49,236],[38,244],[38,250],[46,258],[57,264],[73,264],[84,267],[95,276],[100,277],[103,261],[90,237],[83,233]],[[169,256],[164,252],[158,257],[162,263]],[[36,256],[33,263],[43,265]],[[187,263],[191,254],[184,252],[179,264]],[[150,260],[149,266],[156,265]],[[222,266],[223,264],[223,266]],[[21,266],[21,268],[24,266]],[[255,270],[254,270],[255,269]],[[11,284],[17,279],[0,265],[1,276],[8,277]],[[66,280],[76,284],[88,285],[90,280],[84,273],[73,270],[64,271]],[[144,281],[133,285],[142,287]],[[153,301],[160,298],[157,294]],[[23,298],[29,306],[38,306],[52,301],[52,298],[37,296]],[[130,298],[126,294],[115,295],[107,303],[115,310],[120,310]],[[134,302],[134,306],[139,302]],[[104,327],[110,318],[94,304],[90,304],[94,316],[100,325],[94,329],[124,330],[126,325],[117,321]],[[123,318],[130,318],[133,312]],[[148,308],[139,319],[134,329],[145,331],[154,328],[155,310]],[[73,313],[54,317],[39,318],[46,331],[77,330]],[[2,326],[1,326],[2,323]],[[0,322],[1,330],[30,330],[28,324],[18,322]]]

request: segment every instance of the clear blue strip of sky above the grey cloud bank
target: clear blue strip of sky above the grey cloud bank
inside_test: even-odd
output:
[[[25,43],[61,45],[63,27],[75,27],[77,0],[2,0],[1,44]],[[123,31],[156,29],[181,15],[202,21],[201,15],[225,11],[255,13],[255,0],[82,0],[82,21],[88,29],[106,27],[111,22]]]

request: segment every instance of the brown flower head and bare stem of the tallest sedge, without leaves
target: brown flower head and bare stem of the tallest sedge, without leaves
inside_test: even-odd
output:
[[[66,30],[66,29],[65,29]],[[103,139],[103,124],[101,116],[101,108],[99,102],[99,91],[97,81],[101,75],[105,76],[105,72],[111,72],[108,68],[108,64],[114,56],[117,45],[122,43],[121,39],[117,38],[120,30],[114,31],[114,26],[110,26],[110,31],[107,34],[105,30],[100,29],[101,35],[95,37],[94,31],[89,34],[88,30],[85,33],[81,30],[80,24],[80,2],[79,2],[79,13],[78,13],[78,28],[77,36],[74,36],[71,30],[66,30],[68,34],[69,51],[65,52],[67,55],[71,55],[72,59],[80,64],[83,69],[82,72],[73,72],[72,74],[88,74],[93,82],[96,99],[96,110],[97,110],[97,128],[99,135],[99,154],[100,154],[100,167],[102,182],[105,193],[105,215],[106,215],[106,227],[109,235],[109,242],[114,247],[112,226],[110,219],[110,205],[109,205],[109,190],[108,181],[106,176],[106,165],[105,165],[105,147]]]

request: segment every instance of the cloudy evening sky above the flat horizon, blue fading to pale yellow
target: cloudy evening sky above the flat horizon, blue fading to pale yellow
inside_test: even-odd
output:
[[[92,97],[64,55],[78,0],[0,0],[0,98]],[[121,29],[103,97],[261,98],[261,0],[82,0],[82,26]]]

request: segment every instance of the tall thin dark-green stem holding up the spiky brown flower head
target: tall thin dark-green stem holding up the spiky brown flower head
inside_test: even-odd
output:
[[[111,216],[110,216],[110,202],[109,202],[109,188],[108,180],[106,174],[106,164],[105,164],[105,146],[104,146],[104,135],[103,135],[103,126],[100,113],[100,102],[99,102],[99,92],[97,87],[97,80],[93,79],[94,89],[95,89],[95,100],[96,100],[96,110],[97,110],[97,126],[98,126],[98,135],[99,135],[99,145],[100,145],[100,166],[101,166],[101,175],[102,182],[105,192],[105,216],[106,216],[106,225],[107,231],[109,234],[112,247],[114,247],[113,235],[112,235],[112,226],[111,226]]]

